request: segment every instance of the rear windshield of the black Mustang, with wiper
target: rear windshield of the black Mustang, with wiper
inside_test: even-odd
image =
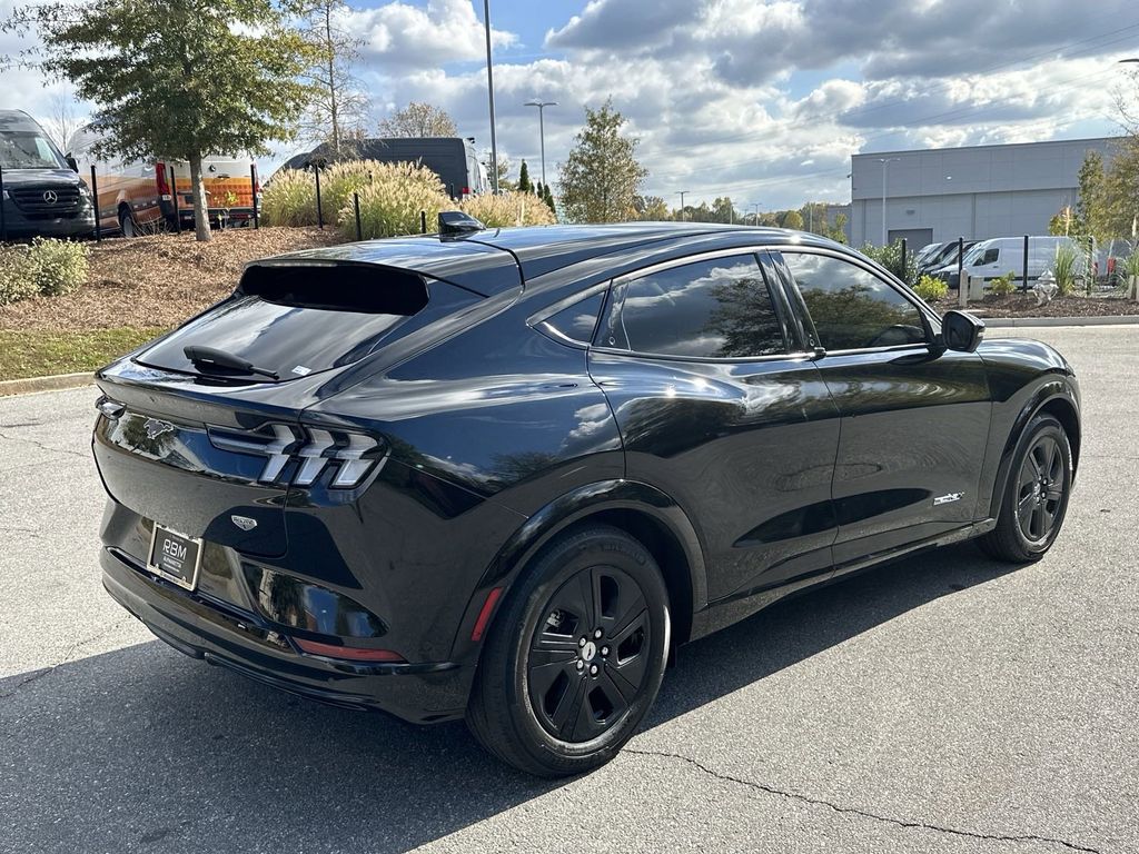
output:
[[[370,264],[257,265],[229,299],[138,356],[155,368],[264,381],[263,373],[192,362],[185,348],[222,351],[280,381],[352,364],[428,303],[417,274]]]

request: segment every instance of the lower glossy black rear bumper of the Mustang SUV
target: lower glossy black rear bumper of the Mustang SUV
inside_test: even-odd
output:
[[[103,585],[174,649],[259,682],[335,706],[411,723],[462,717],[473,666],[452,662],[357,664],[302,655],[245,614],[155,578],[117,549],[100,551]]]

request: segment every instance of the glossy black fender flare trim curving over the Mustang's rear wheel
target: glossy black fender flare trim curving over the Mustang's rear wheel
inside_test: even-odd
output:
[[[663,527],[683,551],[691,590],[693,614],[707,605],[704,551],[696,528],[680,504],[666,493],[646,483],[624,479],[600,481],[577,486],[547,503],[519,525],[499,549],[467,602],[452,644],[452,660],[473,662],[477,658],[482,642],[472,640],[472,634],[492,590],[501,589],[502,594],[491,606],[486,631],[493,625],[499,605],[509,596],[510,588],[524,567],[542,547],[572,525],[606,510],[633,510],[650,517]]]

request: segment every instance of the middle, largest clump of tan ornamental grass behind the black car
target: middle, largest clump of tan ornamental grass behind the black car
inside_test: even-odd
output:
[[[372,182],[360,190],[360,227],[364,239],[418,235],[419,213],[426,212],[434,230],[440,211],[452,207],[443,183],[429,170],[410,163],[378,163]],[[351,191],[338,212],[341,231],[355,238],[355,211]]]

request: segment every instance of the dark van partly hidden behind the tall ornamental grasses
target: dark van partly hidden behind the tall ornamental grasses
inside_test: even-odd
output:
[[[306,169],[337,161],[379,161],[380,163],[417,163],[429,169],[443,182],[446,194],[462,200],[467,196],[489,192],[486,169],[478,162],[475,141],[460,137],[383,137],[353,140],[336,155],[331,145],[294,155],[281,169]]]

